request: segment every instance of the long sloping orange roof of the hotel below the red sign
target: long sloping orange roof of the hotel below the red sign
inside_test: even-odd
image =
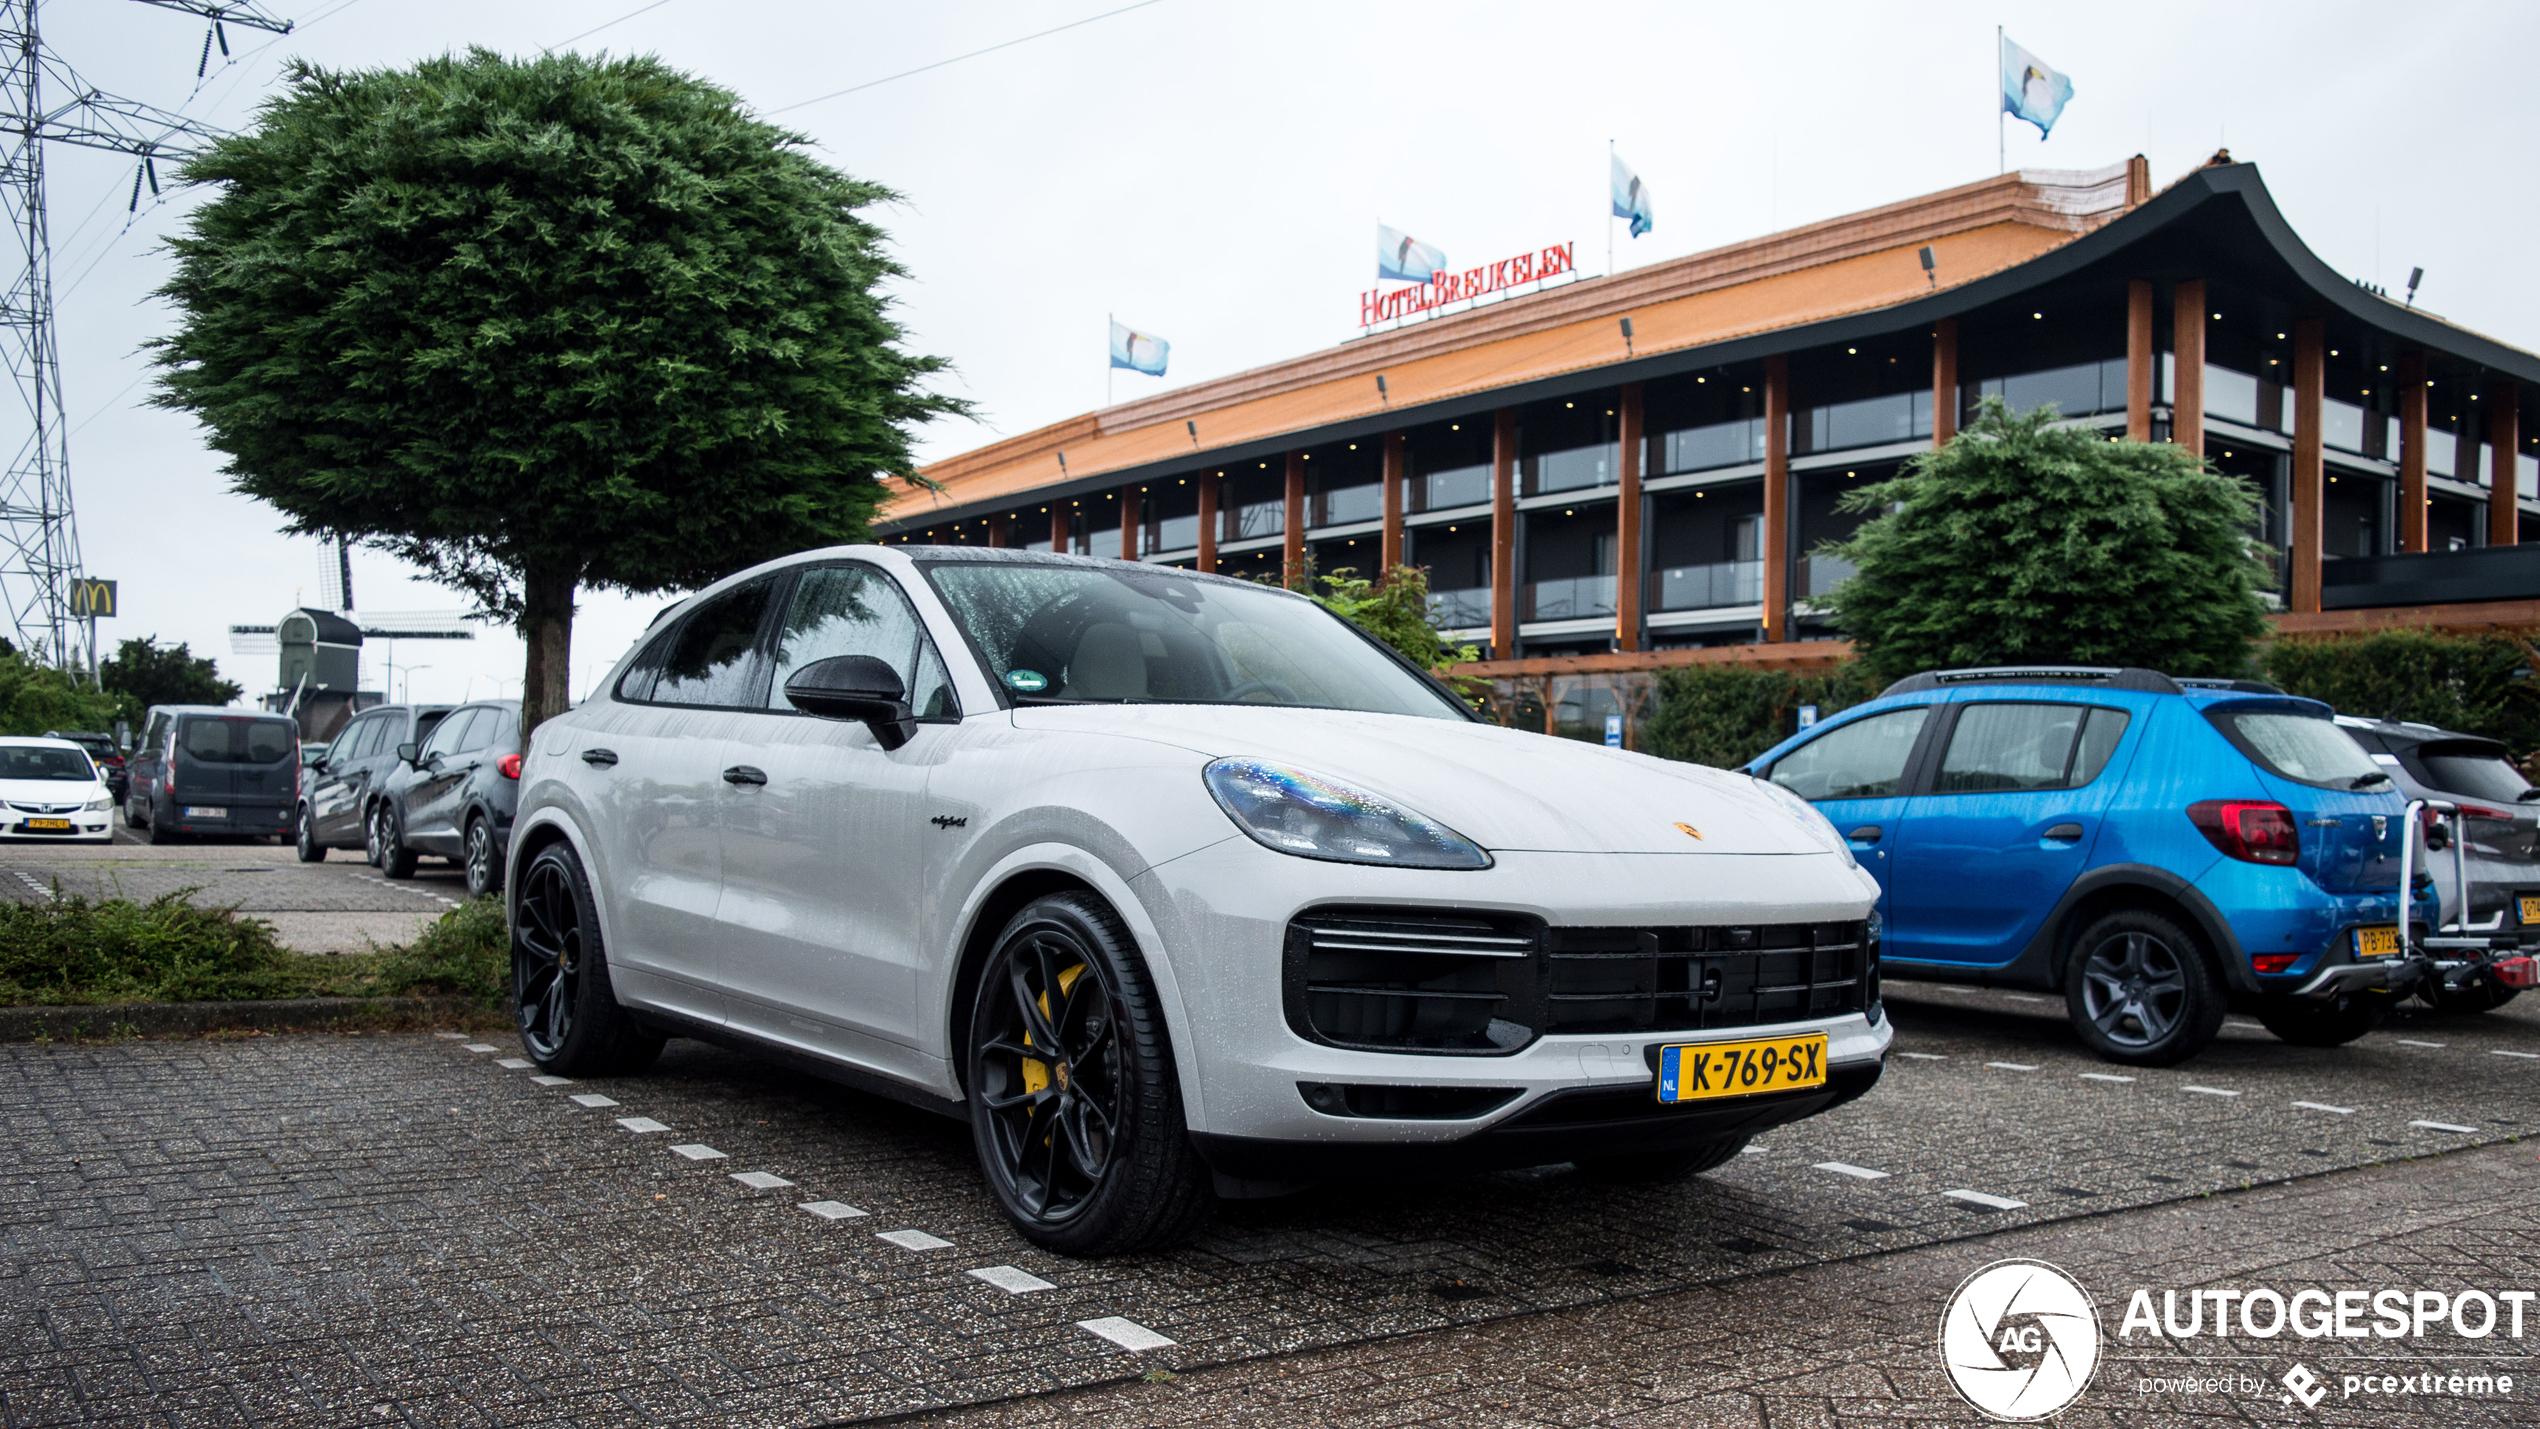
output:
[[[1384,406],[1618,363],[1626,353],[1615,317],[1623,312],[1633,320],[1633,353],[1656,355],[1892,307],[1930,292],[1918,256],[1923,244],[1935,254],[1943,287],[1958,287],[2098,228],[2149,198],[2149,188],[2141,155],[2098,173],[2009,173],[1410,322],[945,457],[925,467],[942,492],[904,490],[884,505],[881,520],[1173,457],[1204,464],[1209,449],[1372,416]],[[1377,396],[1374,373],[1384,373],[1389,404]],[[1199,424],[1196,452],[1184,421]],[[1064,475],[1059,452],[1067,452]]]

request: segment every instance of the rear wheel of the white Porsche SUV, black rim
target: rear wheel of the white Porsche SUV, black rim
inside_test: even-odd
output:
[[[617,1005],[592,883],[569,843],[549,843],[521,873],[511,916],[511,998],[521,1048],[556,1076],[632,1076],[660,1056],[660,1033]]]

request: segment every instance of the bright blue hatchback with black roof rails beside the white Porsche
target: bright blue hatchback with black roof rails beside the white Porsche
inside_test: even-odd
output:
[[[2398,929],[2405,800],[2329,706],[2273,685],[1941,670],[1748,772],[1877,876],[1892,977],[2062,992],[2111,1061],[2195,1056],[2230,1008],[2347,1043],[2428,975]]]

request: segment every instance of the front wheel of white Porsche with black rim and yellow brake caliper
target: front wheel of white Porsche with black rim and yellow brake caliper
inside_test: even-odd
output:
[[[1016,1231],[1067,1256],[1189,1239],[1217,1208],[1214,1183],[1181,1119],[1146,962],[1110,906],[1034,901],[970,992],[970,1140]],[[1044,1046],[1064,1058],[1034,1056]]]

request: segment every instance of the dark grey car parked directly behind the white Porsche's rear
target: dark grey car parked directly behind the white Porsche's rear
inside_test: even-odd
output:
[[[521,805],[521,701],[460,706],[399,759],[373,820],[378,871],[411,878],[417,855],[434,853],[467,871],[470,899],[500,891]]]

